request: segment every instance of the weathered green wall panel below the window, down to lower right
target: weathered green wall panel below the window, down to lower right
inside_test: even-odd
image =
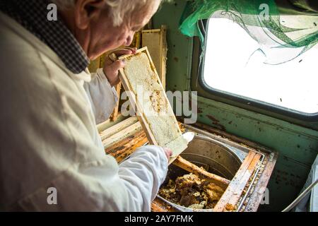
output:
[[[299,193],[318,153],[318,133],[245,109],[199,97],[199,121],[278,151],[269,183],[270,205],[282,210]]]

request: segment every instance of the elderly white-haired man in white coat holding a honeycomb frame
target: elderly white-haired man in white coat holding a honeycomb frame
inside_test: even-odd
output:
[[[120,165],[105,155],[95,124],[124,62],[86,68],[129,45],[160,1],[55,0],[56,21],[50,1],[1,1],[0,210],[150,210],[171,151],[149,145]]]

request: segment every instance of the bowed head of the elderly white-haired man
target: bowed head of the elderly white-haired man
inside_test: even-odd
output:
[[[52,0],[90,59],[128,46],[162,0]]]

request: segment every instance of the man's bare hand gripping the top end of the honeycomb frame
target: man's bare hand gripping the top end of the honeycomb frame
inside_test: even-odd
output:
[[[117,57],[126,55],[126,54],[136,54],[136,48],[124,48],[124,49],[117,49],[110,54],[116,54]],[[125,66],[124,61],[117,60],[112,61],[110,57],[105,57],[105,64],[104,64],[104,73],[110,83],[110,85],[114,86],[120,82],[119,79],[119,69],[123,69]]]

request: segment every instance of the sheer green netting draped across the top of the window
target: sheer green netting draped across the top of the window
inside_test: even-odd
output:
[[[295,10],[297,7],[300,11]],[[291,16],[288,18],[286,14]],[[179,29],[189,37],[200,37],[204,45],[204,34],[199,27],[199,22],[211,17],[235,21],[254,40],[271,48],[302,48],[300,53],[298,52],[301,54],[318,42],[318,13],[312,6],[306,5],[305,0],[289,0],[288,3],[280,1],[280,4],[273,0],[191,1],[187,3]],[[300,19],[301,23],[299,23]],[[293,20],[295,23],[285,20]],[[259,32],[259,28],[263,32]],[[268,38],[264,39],[264,36]]]

